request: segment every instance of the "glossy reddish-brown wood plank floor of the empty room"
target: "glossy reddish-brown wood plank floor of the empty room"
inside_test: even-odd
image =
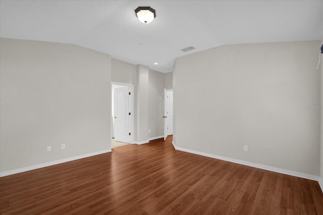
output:
[[[317,182],[161,139],[0,178],[0,214],[323,214]]]

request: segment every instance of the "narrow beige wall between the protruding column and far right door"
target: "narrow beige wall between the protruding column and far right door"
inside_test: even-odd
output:
[[[164,73],[149,70],[149,138],[164,135]]]

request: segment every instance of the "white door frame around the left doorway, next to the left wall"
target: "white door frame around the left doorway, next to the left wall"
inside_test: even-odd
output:
[[[131,113],[130,117],[129,117],[129,132],[131,133],[130,137],[129,137],[129,143],[134,144],[134,85],[133,84],[127,84],[127,83],[121,83],[121,82],[115,82],[115,81],[111,81],[111,145],[110,147],[112,148],[112,134],[113,134],[113,115],[112,115],[112,105],[114,103],[114,101],[112,101],[112,94],[113,94],[113,87],[112,85],[121,85],[121,86],[125,86],[125,87],[129,87],[129,91],[130,91],[130,95],[129,95],[129,111]]]

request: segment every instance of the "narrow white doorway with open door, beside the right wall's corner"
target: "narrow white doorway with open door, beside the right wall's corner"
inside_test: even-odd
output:
[[[164,89],[164,141],[173,134],[173,90]]]

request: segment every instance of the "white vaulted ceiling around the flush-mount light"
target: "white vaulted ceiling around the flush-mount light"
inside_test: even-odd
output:
[[[156,18],[139,22],[139,6]],[[77,44],[164,73],[219,45],[323,38],[323,1],[1,0],[0,9],[1,37]],[[188,46],[196,49],[180,50]]]

